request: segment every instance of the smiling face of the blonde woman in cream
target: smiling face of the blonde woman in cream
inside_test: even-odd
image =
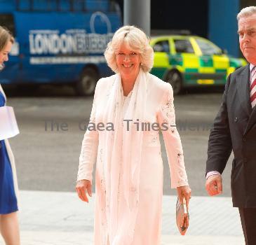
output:
[[[121,78],[137,78],[140,71],[140,53],[126,43],[122,43],[116,52],[116,64]]]

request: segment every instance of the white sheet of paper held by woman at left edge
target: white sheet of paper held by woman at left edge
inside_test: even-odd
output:
[[[16,122],[13,107],[1,106],[0,107],[0,140],[9,139],[20,134]]]

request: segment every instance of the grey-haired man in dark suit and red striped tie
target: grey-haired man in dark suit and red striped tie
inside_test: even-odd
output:
[[[256,244],[256,7],[237,15],[241,51],[248,65],[227,78],[220,111],[208,142],[206,190],[222,193],[222,172],[234,152],[231,172],[233,206],[238,207],[245,244]]]

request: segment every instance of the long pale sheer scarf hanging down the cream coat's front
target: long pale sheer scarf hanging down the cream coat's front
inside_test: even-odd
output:
[[[143,132],[137,131],[133,122],[144,122],[147,98],[147,73],[140,70],[130,97],[128,109],[123,115],[123,88],[121,76],[116,74],[109,100],[106,104],[104,121],[114,123],[114,132],[106,132],[105,147],[105,242],[110,245],[130,245],[140,202],[140,163],[142,158]],[[124,120],[130,122],[130,130]],[[139,121],[137,120],[139,119]],[[121,151],[122,149],[122,151]],[[121,183],[120,179],[123,179]],[[104,198],[102,199],[104,200]],[[118,210],[122,210],[121,215]]]

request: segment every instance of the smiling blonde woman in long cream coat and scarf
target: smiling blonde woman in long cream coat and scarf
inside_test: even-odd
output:
[[[171,187],[187,204],[191,197],[182,144],[175,127],[173,89],[149,73],[154,52],[147,36],[136,27],[117,30],[105,57],[116,74],[97,83],[79,158],[76,191],[81,200],[88,202],[97,160],[94,244],[160,245],[160,129],[168,155]]]

